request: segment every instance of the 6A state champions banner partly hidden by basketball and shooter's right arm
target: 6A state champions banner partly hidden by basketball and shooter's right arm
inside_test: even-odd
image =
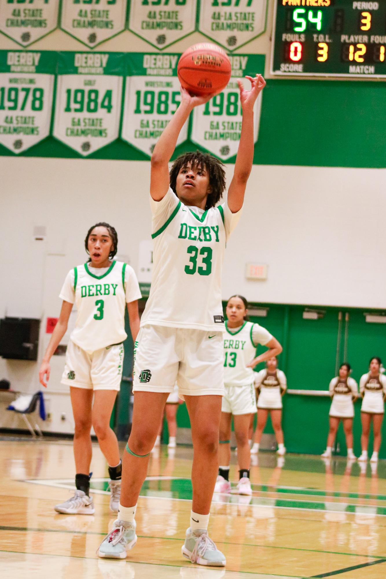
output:
[[[190,140],[213,153],[223,161],[236,155],[240,142],[242,111],[237,79],[245,75],[264,73],[263,54],[237,54],[230,56],[232,76],[226,88],[203,107],[193,109],[193,123]],[[244,86],[251,86],[244,79]],[[258,141],[262,94],[255,102],[253,142]]]

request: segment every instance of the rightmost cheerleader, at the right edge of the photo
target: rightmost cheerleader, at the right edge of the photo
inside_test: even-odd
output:
[[[374,356],[370,360],[369,372],[363,374],[359,382],[359,392],[363,398],[361,408],[362,454],[359,461],[366,462],[367,446],[369,444],[370,423],[373,421],[374,450],[371,463],[378,461],[378,452],[381,446],[381,428],[384,415],[384,401],[386,398],[386,377],[380,373],[381,358]]]

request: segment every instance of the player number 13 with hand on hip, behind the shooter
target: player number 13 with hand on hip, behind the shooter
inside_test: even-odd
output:
[[[256,412],[253,368],[267,358],[280,354],[282,347],[269,331],[259,324],[247,321],[247,300],[232,296],[226,306],[227,321],[224,334],[224,384],[220,420],[219,474],[215,493],[229,493],[230,432],[233,415],[234,433],[237,441],[239,467],[238,494],[251,495],[249,467],[251,448],[248,430],[251,416]],[[256,347],[269,348],[255,357]]]

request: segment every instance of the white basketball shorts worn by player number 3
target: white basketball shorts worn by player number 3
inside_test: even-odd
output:
[[[119,390],[123,369],[123,344],[87,354],[69,340],[62,384],[90,390]]]

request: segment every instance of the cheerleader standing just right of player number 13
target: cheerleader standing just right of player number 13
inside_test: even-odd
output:
[[[272,426],[278,444],[277,453],[285,455],[283,431],[281,429],[282,401],[281,398],[287,389],[285,373],[277,368],[277,358],[271,356],[267,360],[267,368],[260,370],[255,377],[256,394],[258,395],[258,424],[255,432],[255,442],[251,453],[259,452],[260,440],[270,413]]]

